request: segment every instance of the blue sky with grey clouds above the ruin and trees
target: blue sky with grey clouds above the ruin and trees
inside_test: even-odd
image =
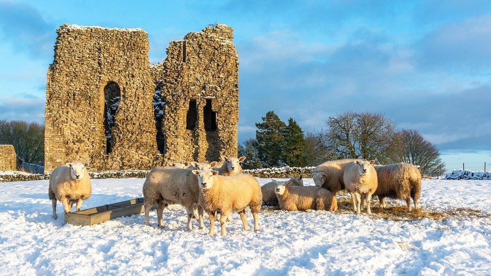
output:
[[[448,168],[491,163],[489,1],[0,0],[0,119],[43,122],[63,23],[142,28],[158,62],[171,40],[215,22],[234,29],[239,140],[269,110],[307,131],[368,110],[418,129]]]

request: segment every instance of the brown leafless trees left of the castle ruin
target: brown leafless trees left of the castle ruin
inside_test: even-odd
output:
[[[14,146],[18,165],[44,162],[44,126],[41,124],[0,120],[0,144]]]

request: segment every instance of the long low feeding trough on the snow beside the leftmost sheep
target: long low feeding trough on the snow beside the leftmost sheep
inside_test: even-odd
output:
[[[66,223],[72,225],[94,225],[119,217],[128,217],[145,211],[143,198],[111,203],[103,206],[66,214]]]

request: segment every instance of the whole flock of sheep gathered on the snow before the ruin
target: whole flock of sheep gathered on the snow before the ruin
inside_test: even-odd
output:
[[[254,230],[259,230],[258,213],[261,206],[279,206],[287,211],[327,210],[337,211],[336,193],[345,190],[353,200],[353,210],[360,214],[366,210],[371,215],[370,201],[378,196],[385,208],[385,198],[401,199],[411,211],[411,198],[415,209],[421,196],[421,173],[411,164],[396,163],[374,165],[374,161],[343,159],[328,161],[312,170],[315,186],[303,186],[303,179],[273,180],[263,187],[256,177],[242,173],[240,163],[245,157],[226,157],[221,163],[185,162],[152,169],[143,183],[145,224],[149,212],[157,210],[157,225],[163,227],[163,209],[169,204],[186,208],[188,229],[193,230],[192,219],[198,218],[199,228],[204,228],[203,214],[210,220],[209,235],[214,235],[215,219],[220,221],[221,235],[226,235],[229,214],[240,215],[244,230],[249,231],[245,209],[249,207],[254,217]],[[83,163],[66,163],[58,166],[49,180],[49,199],[52,200],[53,218],[57,219],[56,202],[63,204],[65,214],[74,203],[80,210],[83,200],[91,195],[90,176]]]

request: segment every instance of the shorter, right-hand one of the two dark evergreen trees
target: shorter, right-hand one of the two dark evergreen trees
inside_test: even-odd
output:
[[[283,146],[283,162],[292,167],[305,166],[305,138],[303,130],[292,118],[288,119],[288,126],[283,132],[285,139]]]

